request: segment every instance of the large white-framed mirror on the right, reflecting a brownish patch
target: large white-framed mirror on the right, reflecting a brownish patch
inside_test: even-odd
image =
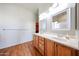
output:
[[[71,29],[71,8],[60,11],[52,16],[53,30]]]

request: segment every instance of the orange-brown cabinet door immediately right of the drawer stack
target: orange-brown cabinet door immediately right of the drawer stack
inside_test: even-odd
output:
[[[45,55],[54,56],[55,47],[54,42],[48,39],[45,39]]]

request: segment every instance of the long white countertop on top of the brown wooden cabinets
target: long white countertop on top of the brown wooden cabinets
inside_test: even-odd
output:
[[[41,33],[34,33],[34,35],[38,35],[44,38],[47,38],[49,40],[53,40],[54,42],[63,44],[65,46],[71,47],[73,49],[77,49],[79,50],[79,46],[78,46],[78,40],[77,39],[63,39],[63,38],[58,38],[56,37],[56,35],[53,34],[41,34]]]

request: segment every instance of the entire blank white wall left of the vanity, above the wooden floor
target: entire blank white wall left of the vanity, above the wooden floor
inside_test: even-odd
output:
[[[34,21],[34,13],[23,6],[0,4],[0,48],[31,41]]]

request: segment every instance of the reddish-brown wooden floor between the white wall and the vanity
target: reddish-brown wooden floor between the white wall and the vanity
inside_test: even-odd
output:
[[[33,47],[32,42],[26,42],[0,49],[0,56],[41,56],[41,54]]]

